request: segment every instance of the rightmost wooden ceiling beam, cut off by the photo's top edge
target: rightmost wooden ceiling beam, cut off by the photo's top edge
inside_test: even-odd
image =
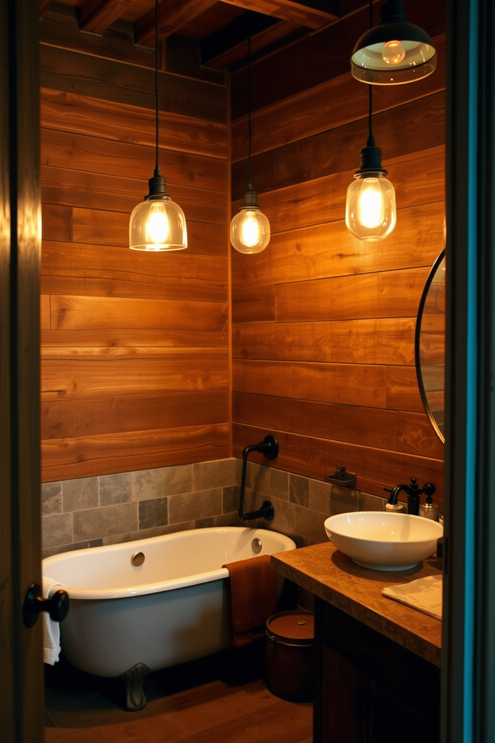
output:
[[[229,5],[255,10],[308,28],[321,28],[338,18],[338,1],[330,0],[223,0]]]

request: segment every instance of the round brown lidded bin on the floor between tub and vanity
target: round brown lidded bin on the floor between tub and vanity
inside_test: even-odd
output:
[[[315,615],[282,611],[266,622],[266,685],[287,701],[311,701]]]

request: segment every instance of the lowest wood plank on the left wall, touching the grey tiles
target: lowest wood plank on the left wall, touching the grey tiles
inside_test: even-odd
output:
[[[129,472],[229,456],[229,424],[42,441],[42,481]]]

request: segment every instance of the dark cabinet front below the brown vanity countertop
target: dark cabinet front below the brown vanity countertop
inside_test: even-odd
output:
[[[440,669],[315,598],[314,743],[438,743]]]

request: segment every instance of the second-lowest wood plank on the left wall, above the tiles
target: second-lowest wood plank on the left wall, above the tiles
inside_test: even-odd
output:
[[[123,431],[226,423],[228,392],[157,392],[115,398],[68,398],[42,402],[42,439],[79,438]]]

